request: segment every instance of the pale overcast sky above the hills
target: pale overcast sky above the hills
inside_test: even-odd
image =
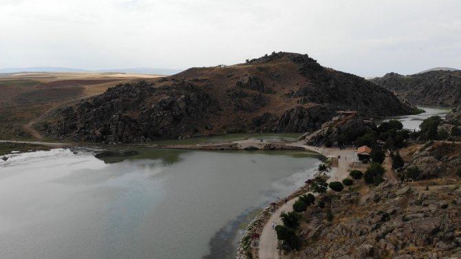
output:
[[[461,1],[0,0],[0,68],[186,69],[272,51],[365,77],[461,69]]]

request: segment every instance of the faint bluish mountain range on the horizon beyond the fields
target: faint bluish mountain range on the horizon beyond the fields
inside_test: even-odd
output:
[[[161,69],[161,68],[132,68],[132,69],[76,69],[69,67],[21,67],[21,68],[4,68],[0,69],[0,74],[11,74],[21,72],[48,72],[48,73],[91,73],[91,72],[115,72],[127,74],[151,74],[171,76],[178,74],[182,69]]]

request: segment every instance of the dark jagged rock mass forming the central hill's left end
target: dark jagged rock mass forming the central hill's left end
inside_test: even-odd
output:
[[[193,135],[211,115],[219,115],[217,100],[190,82],[152,87],[142,81],[58,110],[46,131],[86,142],[145,142]]]

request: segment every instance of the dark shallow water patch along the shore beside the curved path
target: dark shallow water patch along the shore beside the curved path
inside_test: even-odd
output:
[[[259,211],[260,209],[257,207],[248,209],[219,229],[209,242],[210,254],[204,256],[203,259],[235,258],[239,236],[242,235],[240,226],[248,224],[253,218],[253,214]]]

